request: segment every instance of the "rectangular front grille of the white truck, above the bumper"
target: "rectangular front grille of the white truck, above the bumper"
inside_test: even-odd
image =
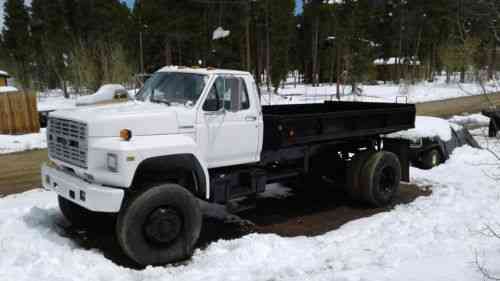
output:
[[[87,125],[72,120],[49,118],[49,155],[60,161],[87,168]]]

